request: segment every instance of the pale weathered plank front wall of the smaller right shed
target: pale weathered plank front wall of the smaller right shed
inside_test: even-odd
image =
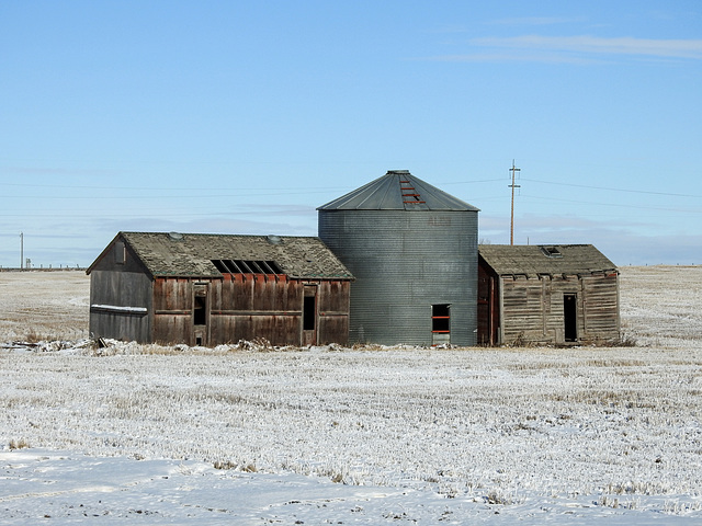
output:
[[[501,343],[566,343],[564,296],[576,297],[576,342],[619,338],[616,273],[502,276]]]

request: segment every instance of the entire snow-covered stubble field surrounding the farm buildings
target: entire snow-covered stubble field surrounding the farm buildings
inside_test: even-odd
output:
[[[0,524],[700,524],[702,267],[621,271],[567,350],[93,350],[0,273]]]

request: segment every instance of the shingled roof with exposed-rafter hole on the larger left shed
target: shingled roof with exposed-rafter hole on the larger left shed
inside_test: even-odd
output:
[[[213,260],[274,261],[296,278],[353,278],[319,238],[176,232],[120,232],[152,276],[220,277]],[[103,254],[105,253],[103,252]],[[100,261],[102,254],[88,268]]]

